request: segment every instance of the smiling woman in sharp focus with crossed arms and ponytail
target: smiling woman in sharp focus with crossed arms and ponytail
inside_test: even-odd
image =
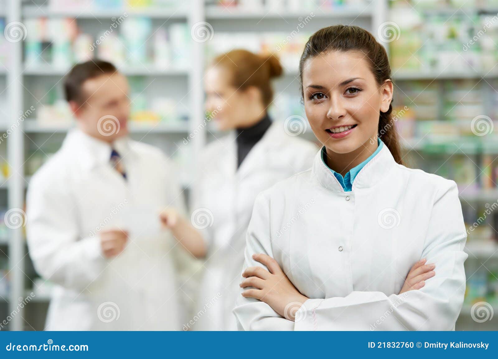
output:
[[[300,78],[323,146],[311,170],[256,198],[239,329],[454,330],[467,259],[458,189],[402,165],[384,48],[357,26],[321,29]]]

